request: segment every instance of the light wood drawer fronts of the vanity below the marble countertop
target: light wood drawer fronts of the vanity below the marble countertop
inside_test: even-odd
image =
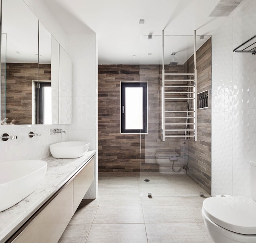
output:
[[[6,243],[57,243],[93,180],[94,157]]]

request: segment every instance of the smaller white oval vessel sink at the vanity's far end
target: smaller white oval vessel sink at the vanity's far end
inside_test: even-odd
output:
[[[70,141],[50,145],[54,158],[71,159],[83,156],[89,149],[90,142]]]

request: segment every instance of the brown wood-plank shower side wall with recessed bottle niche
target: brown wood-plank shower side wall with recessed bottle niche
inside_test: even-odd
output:
[[[193,71],[194,55],[184,65],[189,72]],[[198,72],[197,93],[209,90],[208,108],[197,110],[197,141],[188,142],[187,175],[200,185],[206,192],[211,193],[211,144],[212,144],[212,42],[209,38],[196,51]]]

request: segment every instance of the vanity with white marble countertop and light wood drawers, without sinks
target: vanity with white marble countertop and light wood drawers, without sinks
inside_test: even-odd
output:
[[[95,180],[94,157],[92,150],[79,158],[43,159],[47,170],[40,186],[0,212],[0,243],[58,242]]]

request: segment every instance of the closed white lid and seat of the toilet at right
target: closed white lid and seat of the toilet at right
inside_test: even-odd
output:
[[[250,197],[212,197],[204,200],[202,212],[229,231],[256,235],[256,202]]]

